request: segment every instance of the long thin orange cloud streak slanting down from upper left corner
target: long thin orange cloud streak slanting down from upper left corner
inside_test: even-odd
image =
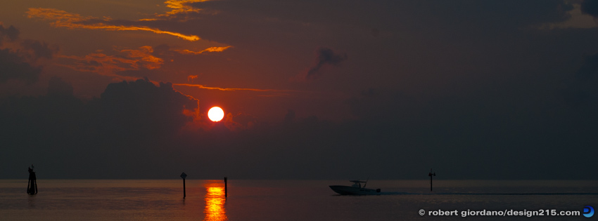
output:
[[[148,31],[156,34],[170,34],[187,41],[197,41],[200,38],[195,35],[185,35],[177,32],[167,32],[157,28],[134,25],[110,25],[110,19],[98,19],[94,17],[84,17],[75,13],[68,13],[54,8],[29,8],[27,18],[42,18],[51,20],[50,24],[54,27],[68,27],[70,29],[106,29],[111,31]]]

